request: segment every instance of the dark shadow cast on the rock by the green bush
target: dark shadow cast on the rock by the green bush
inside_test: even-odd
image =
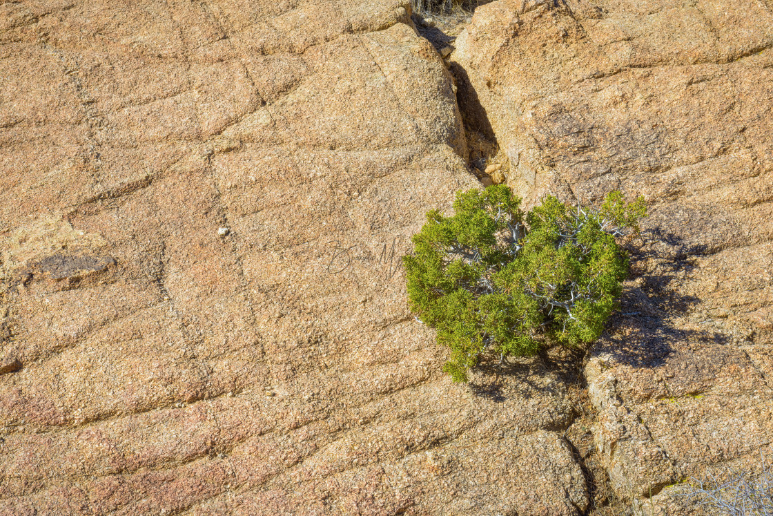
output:
[[[637,241],[627,246],[632,274],[621,295],[620,309],[610,317],[594,349],[603,350],[616,364],[654,368],[666,363],[676,341],[727,343],[728,337],[721,333],[686,330],[676,323],[701,302],[697,296],[680,292],[677,282],[695,267],[694,257],[703,255],[705,249],[657,228],[642,231]],[[545,375],[555,375],[565,385],[582,384],[584,355],[584,350],[553,346],[528,359],[500,363],[492,358],[475,367],[478,378],[469,388],[482,398],[504,402],[516,394],[530,398],[536,392],[552,391],[550,384],[536,380]],[[517,381],[506,382],[508,378]]]

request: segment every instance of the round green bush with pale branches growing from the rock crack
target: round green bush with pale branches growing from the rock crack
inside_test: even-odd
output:
[[[523,214],[520,202],[504,185],[459,192],[455,214],[427,213],[403,257],[410,308],[451,349],[443,370],[454,381],[484,353],[503,360],[597,339],[628,275],[615,237],[646,216],[641,197],[626,204],[620,192],[598,209],[548,196]]]

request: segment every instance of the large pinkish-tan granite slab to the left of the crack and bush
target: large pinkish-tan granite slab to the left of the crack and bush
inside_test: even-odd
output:
[[[0,514],[584,511],[560,368],[407,312],[476,184],[407,4],[5,2],[0,77]]]

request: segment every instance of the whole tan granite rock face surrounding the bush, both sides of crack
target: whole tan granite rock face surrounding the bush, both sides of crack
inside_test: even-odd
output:
[[[615,496],[770,455],[770,5],[411,14],[0,6],[0,514],[585,514],[576,357],[451,384],[407,309],[427,210],[504,181],[649,203],[584,367]]]

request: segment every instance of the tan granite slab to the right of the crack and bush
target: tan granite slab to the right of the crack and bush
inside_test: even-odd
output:
[[[527,199],[649,203],[586,374],[611,483],[660,492],[656,512],[685,514],[663,487],[773,451],[771,47],[760,0],[499,0],[451,56]]]

